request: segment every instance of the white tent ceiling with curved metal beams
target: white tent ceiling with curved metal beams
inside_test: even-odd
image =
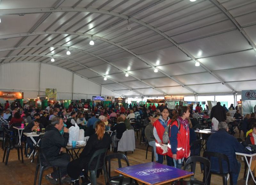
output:
[[[126,96],[240,92],[256,81],[255,17],[255,0],[2,0],[0,64],[57,65]]]

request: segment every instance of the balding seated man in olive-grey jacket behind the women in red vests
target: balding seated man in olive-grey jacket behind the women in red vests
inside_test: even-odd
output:
[[[156,121],[156,118],[151,118],[150,124],[145,128],[145,135],[148,140],[149,146],[152,146],[154,148],[154,155],[156,158],[156,162],[158,161],[158,155],[156,153],[156,140],[154,139],[153,129],[154,129],[154,122]]]

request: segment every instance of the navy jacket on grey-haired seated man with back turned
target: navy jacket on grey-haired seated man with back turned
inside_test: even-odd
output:
[[[228,156],[230,171],[238,173],[238,162],[235,152],[244,152],[244,146],[239,143],[236,138],[220,129],[212,134],[207,141],[207,151],[223,153]],[[223,164],[223,163],[222,163]],[[228,164],[222,165],[224,172],[228,171]],[[219,163],[217,158],[211,158],[211,170],[219,171]]]

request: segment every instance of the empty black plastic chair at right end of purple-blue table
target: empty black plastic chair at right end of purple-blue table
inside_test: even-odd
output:
[[[196,163],[199,162],[200,164],[203,164],[204,166],[204,177],[203,181],[199,181],[195,179],[195,173],[196,173]],[[180,181],[180,185],[207,185],[208,181],[210,181],[210,169],[211,169],[211,162],[207,158],[203,158],[200,156],[190,156],[184,165],[184,170],[186,170],[190,166],[191,172],[194,173],[193,176],[190,177],[190,181]],[[178,183],[179,184],[179,183]]]

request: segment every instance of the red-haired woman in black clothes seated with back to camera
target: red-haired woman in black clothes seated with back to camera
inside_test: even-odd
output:
[[[93,153],[97,150],[110,147],[111,138],[107,132],[105,133],[105,124],[103,121],[98,121],[96,123],[95,132],[95,134],[89,137],[79,158],[68,163],[67,172],[68,175],[72,178],[72,183],[75,185],[79,185],[79,175],[81,173],[84,175],[83,184],[91,184],[88,179],[88,163]],[[94,158],[90,168],[93,169],[95,167],[96,161],[97,158]],[[100,165],[102,164],[103,158],[100,161]],[[84,171],[82,171],[83,169]]]

